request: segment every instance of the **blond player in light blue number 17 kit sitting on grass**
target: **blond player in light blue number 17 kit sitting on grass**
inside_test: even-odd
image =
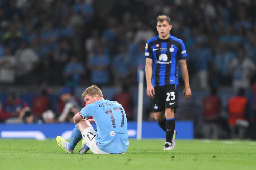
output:
[[[102,91],[95,85],[88,87],[82,94],[85,107],[75,114],[75,128],[70,142],[60,136],[56,141],[66,153],[74,153],[75,145],[81,140],[79,153],[86,153],[89,148],[94,154],[125,154],[129,142],[127,118],[123,106],[117,101],[103,98]],[[87,120],[90,116],[94,119]],[[91,126],[95,122],[97,132]]]

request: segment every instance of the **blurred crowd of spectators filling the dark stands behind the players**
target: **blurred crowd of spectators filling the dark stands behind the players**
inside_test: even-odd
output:
[[[251,92],[255,9],[254,0],[2,0],[0,86],[136,85],[146,41],[157,35],[156,18],[165,14],[171,35],[185,43],[192,91]],[[26,109],[18,117],[29,115]]]

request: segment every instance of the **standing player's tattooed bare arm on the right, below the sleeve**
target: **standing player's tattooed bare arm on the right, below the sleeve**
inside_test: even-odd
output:
[[[192,92],[191,92],[191,89],[190,89],[190,86],[189,86],[189,73],[187,71],[186,59],[179,60],[179,63],[181,65],[182,77],[183,77],[184,84],[185,84],[185,88],[183,90],[183,94],[184,94],[184,97],[186,99],[189,99],[191,97],[191,95],[192,95]]]

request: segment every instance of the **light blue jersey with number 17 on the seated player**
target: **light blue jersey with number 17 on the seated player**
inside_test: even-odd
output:
[[[86,105],[80,116],[92,116],[97,126],[97,147],[107,153],[120,154],[129,146],[127,118],[123,106],[117,101],[99,100]]]

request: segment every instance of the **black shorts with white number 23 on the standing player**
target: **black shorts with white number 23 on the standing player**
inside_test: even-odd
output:
[[[174,108],[175,112],[178,107],[178,84],[155,87],[151,107],[154,112],[165,111],[166,108]]]

